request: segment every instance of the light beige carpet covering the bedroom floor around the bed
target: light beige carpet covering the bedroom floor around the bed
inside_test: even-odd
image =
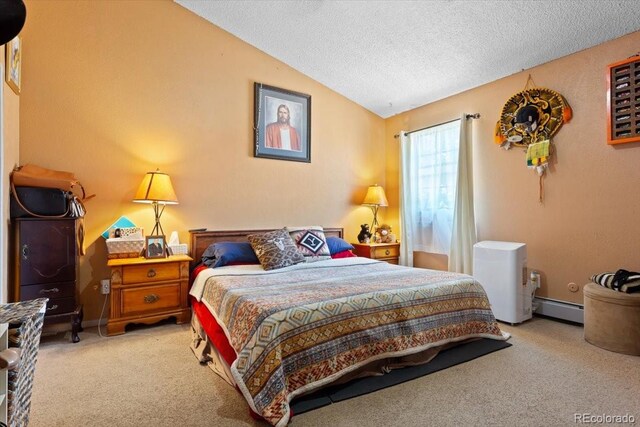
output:
[[[579,326],[534,318],[501,325],[512,347],[296,416],[292,426],[556,426],[574,414],[640,424],[640,357],[582,338]],[[164,323],[71,344],[43,337],[30,426],[262,426],[243,398],[189,349],[189,325]]]

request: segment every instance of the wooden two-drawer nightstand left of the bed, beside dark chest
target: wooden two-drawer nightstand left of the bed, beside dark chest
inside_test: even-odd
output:
[[[188,322],[191,261],[187,255],[109,260],[111,309],[107,335],[124,334],[129,323],[150,324],[172,316],[176,323]]]

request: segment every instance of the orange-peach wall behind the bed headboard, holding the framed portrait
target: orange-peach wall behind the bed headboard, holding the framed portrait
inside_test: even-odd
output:
[[[384,120],[169,1],[28,1],[20,160],[75,172],[87,203],[80,271],[86,318],[108,277],[100,237],[120,215],[150,232],[131,202],[145,172],[170,174],[180,204],[164,230],[342,226],[384,184]],[[311,163],[253,157],[253,84],[311,95]]]

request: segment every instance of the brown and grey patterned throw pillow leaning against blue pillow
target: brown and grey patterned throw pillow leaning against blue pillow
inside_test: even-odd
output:
[[[304,262],[304,256],[298,251],[286,229],[270,231],[264,234],[247,236],[262,268],[275,270]]]

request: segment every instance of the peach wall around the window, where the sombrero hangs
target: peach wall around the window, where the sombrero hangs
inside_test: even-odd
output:
[[[542,272],[538,294],[558,300],[581,303],[582,286],[594,273],[640,270],[640,143],[606,144],[605,80],[606,66],[634,55],[639,44],[635,32],[387,119],[389,214],[398,217],[393,135],[477,112],[482,115],[473,123],[479,240],[525,242],[528,266]],[[574,112],[553,139],[543,204],[523,149],[504,151],[493,143],[502,106],[524,89],[529,73],[536,85],[564,95]],[[569,282],[580,291],[571,293]]]

